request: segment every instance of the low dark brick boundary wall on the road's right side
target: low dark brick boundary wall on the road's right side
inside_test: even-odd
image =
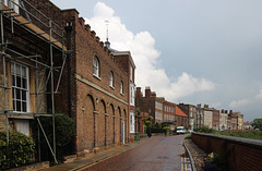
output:
[[[207,154],[226,152],[230,171],[262,169],[262,141],[201,133],[193,133],[192,141]]]

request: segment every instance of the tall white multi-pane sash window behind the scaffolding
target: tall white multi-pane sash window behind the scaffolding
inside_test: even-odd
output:
[[[28,68],[11,62],[12,100],[14,112],[29,112]]]

